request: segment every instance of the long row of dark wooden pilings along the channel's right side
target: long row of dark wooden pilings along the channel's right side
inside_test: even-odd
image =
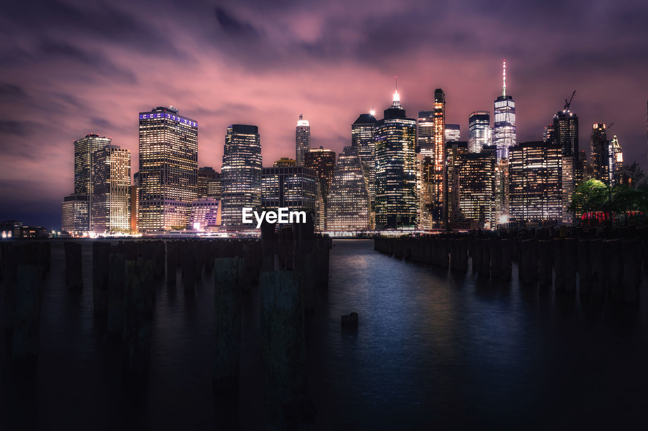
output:
[[[648,228],[545,228],[422,237],[380,237],[374,248],[398,258],[510,280],[513,262],[523,286],[636,302]],[[648,265],[646,265],[648,269]]]

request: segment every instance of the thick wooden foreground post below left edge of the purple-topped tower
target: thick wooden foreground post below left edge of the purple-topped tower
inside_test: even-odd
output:
[[[124,263],[124,338],[122,372],[128,384],[145,384],[151,358],[154,263],[127,260]]]

